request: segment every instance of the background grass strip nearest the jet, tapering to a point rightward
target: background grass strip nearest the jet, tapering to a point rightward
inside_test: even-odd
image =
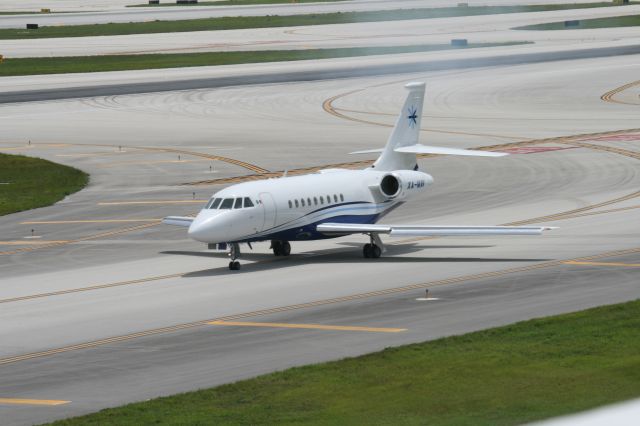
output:
[[[4,62],[0,64],[0,77],[34,74],[142,70],[151,68],[198,67],[257,62],[300,61],[306,59],[430,52],[436,50],[493,47],[513,44],[522,43],[479,43],[469,44],[467,47],[452,47],[446,44],[438,44],[390,47],[350,47],[338,49],[266,50],[250,52],[9,58],[5,59]]]

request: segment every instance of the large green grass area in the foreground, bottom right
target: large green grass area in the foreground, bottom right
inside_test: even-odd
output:
[[[512,425],[640,396],[640,301],[385,349],[55,425]]]

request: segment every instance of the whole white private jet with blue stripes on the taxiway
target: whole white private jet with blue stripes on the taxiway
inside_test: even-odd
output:
[[[193,217],[163,222],[189,227],[189,237],[210,248],[229,250],[229,269],[240,269],[240,244],[271,241],[276,256],[288,256],[290,241],[366,234],[366,258],[385,251],[380,234],[391,237],[445,235],[539,235],[537,226],[383,225],[378,220],[433,183],[420,170],[416,154],[500,157],[498,152],[425,146],[418,143],[424,83],[409,83],[402,111],[376,162],[364,170],[326,169],[318,173],[229,186],[211,197]]]

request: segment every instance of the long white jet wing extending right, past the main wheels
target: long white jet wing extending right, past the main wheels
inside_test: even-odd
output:
[[[318,232],[327,234],[388,234],[391,237],[474,236],[474,235],[540,235],[554,229],[548,226],[431,226],[378,225],[357,223],[322,223]]]

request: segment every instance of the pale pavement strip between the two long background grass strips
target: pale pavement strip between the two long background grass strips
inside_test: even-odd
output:
[[[640,5],[572,9],[534,13],[415,19],[387,22],[255,28],[196,33],[137,34],[0,40],[7,58],[190,53],[261,50],[305,50],[343,47],[449,44],[465,38],[470,43],[535,42],[536,46],[586,48],[598,42],[635,40],[633,27],[574,31],[524,31],[512,28],[565,20],[595,19],[640,14]],[[577,31],[577,32],[576,32]]]

